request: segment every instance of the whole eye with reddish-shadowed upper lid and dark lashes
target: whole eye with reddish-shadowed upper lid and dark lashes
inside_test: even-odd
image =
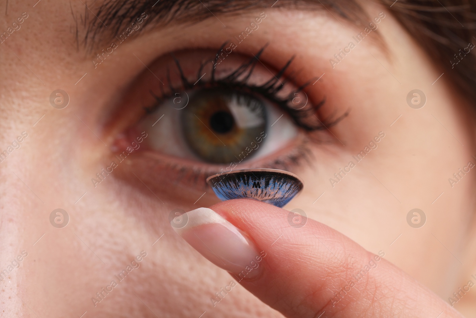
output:
[[[303,92],[307,84],[294,84],[292,72],[284,75],[292,59],[276,71],[259,60],[263,50],[252,57],[230,54],[221,61],[209,50],[158,59],[124,101],[145,111],[119,136],[118,149],[145,131],[141,151],[159,160],[164,170],[183,174],[199,167],[206,171],[204,184],[220,167],[279,169],[297,164],[309,134],[326,130],[338,119],[319,120],[323,102],[308,100]]]

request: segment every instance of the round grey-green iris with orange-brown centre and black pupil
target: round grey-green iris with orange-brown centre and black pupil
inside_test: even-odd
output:
[[[202,160],[215,164],[238,162],[260,133],[266,131],[266,108],[248,93],[202,89],[190,97],[181,122],[185,139]],[[248,147],[248,149],[247,149]]]

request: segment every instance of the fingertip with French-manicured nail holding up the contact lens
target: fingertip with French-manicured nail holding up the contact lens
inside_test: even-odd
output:
[[[251,199],[186,215],[178,234],[287,317],[462,317],[385,251],[369,253],[317,221],[293,227],[289,211]]]

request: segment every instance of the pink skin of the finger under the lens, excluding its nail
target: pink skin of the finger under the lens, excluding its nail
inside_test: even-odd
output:
[[[212,208],[268,251],[250,272],[257,277],[237,280],[286,317],[463,317],[382,259],[384,251],[373,255],[322,223],[297,231],[286,225],[288,211],[250,199]]]

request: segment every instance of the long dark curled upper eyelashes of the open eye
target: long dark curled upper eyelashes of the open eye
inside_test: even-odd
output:
[[[182,88],[178,89],[173,86],[170,80],[170,72],[169,68],[167,68],[167,82],[169,85],[169,92],[165,92],[162,86],[160,87],[161,96],[157,96],[154,92],[150,92],[154,98],[156,99],[157,103],[155,103],[152,107],[145,107],[146,113],[153,113],[160,107],[160,104],[165,102],[171,97],[176,96],[176,93],[181,93],[184,90],[192,89],[192,88],[204,88],[204,87],[218,87],[224,89],[235,89],[241,91],[251,92],[253,94],[258,94],[261,97],[268,99],[270,102],[276,104],[281,110],[288,113],[291,120],[301,129],[312,132],[317,130],[325,130],[329,127],[337,124],[340,120],[347,116],[347,113],[343,115],[331,119],[323,119],[319,120],[314,114],[317,113],[317,110],[322,107],[325,103],[325,99],[321,100],[318,103],[310,103],[309,107],[304,107],[302,109],[295,109],[290,106],[290,103],[293,101],[293,98],[296,93],[303,92],[303,90],[311,83],[312,79],[305,84],[299,86],[296,90],[290,92],[286,98],[282,98],[278,96],[278,93],[284,88],[285,84],[288,82],[293,82],[294,80],[294,73],[291,73],[289,76],[282,78],[286,70],[288,69],[289,65],[293,62],[294,56],[291,57],[288,62],[273,76],[265,83],[261,85],[251,85],[248,83],[249,78],[251,77],[256,64],[259,61],[259,57],[266,49],[267,45],[261,48],[257,54],[255,54],[252,58],[248,60],[248,62],[244,62],[238,68],[231,72],[228,76],[223,79],[217,80],[215,78],[215,68],[212,68],[211,79],[208,82],[202,81],[201,73],[203,68],[210,62],[213,62],[215,65],[218,61],[218,53],[226,46],[226,42],[220,47],[214,59],[208,60],[206,62],[202,62],[200,67],[198,68],[197,78],[193,80],[193,82],[189,81],[185,76],[182,68],[180,66],[180,62],[178,59],[171,53],[171,56],[175,62],[177,70],[180,75],[180,80],[182,82]],[[240,79],[241,77],[241,79]],[[279,79],[282,78],[280,81]],[[314,120],[314,118],[316,120]]]

